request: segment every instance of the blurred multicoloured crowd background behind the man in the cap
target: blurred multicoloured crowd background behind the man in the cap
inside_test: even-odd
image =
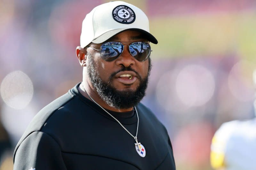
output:
[[[105,2],[0,0],[0,170],[12,169],[13,150],[34,115],[82,81],[75,54],[82,20]],[[256,1],[126,2],[148,15],[159,42],[151,45],[142,103],[166,126],[177,169],[211,170],[214,132],[255,116]]]

